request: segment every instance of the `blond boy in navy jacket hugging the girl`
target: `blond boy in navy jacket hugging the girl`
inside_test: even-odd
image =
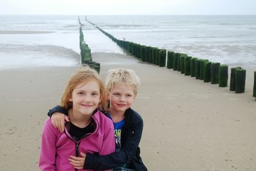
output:
[[[70,156],[72,165],[76,167],[77,163],[84,161],[84,169],[147,170],[140,158],[140,147],[138,147],[143,130],[143,120],[137,112],[131,109],[139,84],[140,79],[132,70],[122,68],[109,70],[106,78],[109,108],[106,115],[114,124],[116,152],[106,156],[85,154],[85,161],[84,157]],[[54,112],[67,115],[67,112],[60,107],[52,108],[48,115],[51,116]],[[64,128],[64,117],[63,114],[56,113],[51,118],[54,127],[60,131]],[[65,120],[68,121],[67,117]]]

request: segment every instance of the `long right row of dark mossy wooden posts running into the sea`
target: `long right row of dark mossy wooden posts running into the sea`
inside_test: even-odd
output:
[[[96,26],[92,22],[88,22]],[[148,47],[131,41],[118,40],[103,29],[100,29],[100,27],[96,26],[96,28],[143,62],[156,64],[159,67],[166,66],[168,69],[180,71],[180,73],[190,75],[198,80],[219,84],[219,87],[227,87],[228,85],[228,66],[226,64],[213,63],[208,59],[199,59],[187,54],[167,51],[157,47]],[[244,93],[245,79],[246,70],[241,67],[231,68],[230,91]],[[256,97],[256,71],[254,73],[253,97]]]

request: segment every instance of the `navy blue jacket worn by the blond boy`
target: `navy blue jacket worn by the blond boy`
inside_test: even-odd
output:
[[[61,112],[68,115],[67,110],[56,106],[49,110],[48,115]],[[134,170],[145,171],[147,168],[140,157],[140,139],[143,130],[143,120],[140,115],[128,108],[125,111],[125,124],[121,133],[121,151],[107,156],[86,154],[84,169],[105,170],[129,163]]]

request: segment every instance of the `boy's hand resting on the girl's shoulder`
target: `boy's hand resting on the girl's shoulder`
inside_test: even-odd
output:
[[[58,130],[63,133],[65,129],[65,121],[69,122],[69,119],[65,114],[54,112],[52,114],[51,121],[54,128],[58,128]]]

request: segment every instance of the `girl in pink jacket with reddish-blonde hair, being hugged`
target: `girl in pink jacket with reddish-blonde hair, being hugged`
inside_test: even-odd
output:
[[[98,73],[88,67],[74,73],[61,97],[61,107],[68,111],[70,122],[65,124],[64,133],[60,133],[50,118],[45,121],[41,170],[77,170],[84,167],[84,158],[73,166],[68,160],[70,156],[115,152],[113,123],[97,109],[99,105],[106,106],[106,95]]]

